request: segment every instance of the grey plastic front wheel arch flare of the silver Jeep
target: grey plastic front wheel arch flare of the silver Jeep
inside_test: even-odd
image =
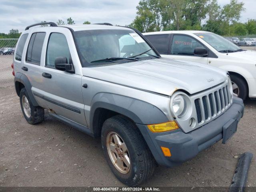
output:
[[[165,114],[150,103],[110,93],[94,96],[90,110],[90,128],[95,137],[100,136],[104,121],[111,116],[123,115],[135,124],[167,122]]]

